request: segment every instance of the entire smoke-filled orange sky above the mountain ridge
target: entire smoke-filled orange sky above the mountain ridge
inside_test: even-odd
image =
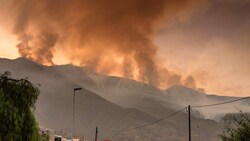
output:
[[[71,63],[160,88],[247,95],[250,22],[230,20],[249,17],[240,11],[247,3],[237,10],[233,1],[215,1],[212,8],[207,0],[0,1],[0,57]],[[201,16],[209,8],[215,19]]]

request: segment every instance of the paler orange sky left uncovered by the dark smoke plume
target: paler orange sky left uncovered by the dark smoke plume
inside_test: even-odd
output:
[[[161,22],[153,35],[157,60],[182,77],[192,75],[197,87],[205,88],[207,93],[249,96],[249,9],[247,0],[214,0],[187,19]],[[0,22],[0,57],[13,59],[20,55],[17,36],[10,27]],[[60,45],[54,52],[55,64],[72,62]]]

